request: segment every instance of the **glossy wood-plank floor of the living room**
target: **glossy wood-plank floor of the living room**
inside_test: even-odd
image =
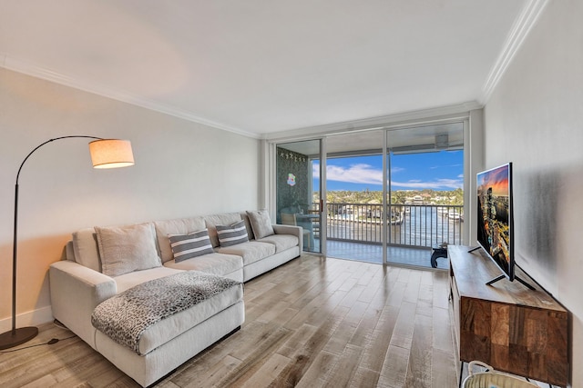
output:
[[[447,282],[443,271],[303,255],[245,284],[241,330],[156,386],[456,387]],[[71,335],[40,329],[26,345]],[[0,386],[138,383],[73,336],[0,353]]]

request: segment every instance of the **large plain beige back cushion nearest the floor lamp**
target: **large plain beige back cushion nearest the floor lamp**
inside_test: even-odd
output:
[[[103,274],[118,276],[162,265],[154,224],[96,226],[95,231]]]

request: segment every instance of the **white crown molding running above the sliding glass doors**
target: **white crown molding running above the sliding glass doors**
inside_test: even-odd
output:
[[[440,121],[465,119],[469,116],[470,111],[475,109],[482,109],[483,107],[483,104],[479,104],[476,101],[469,101],[461,104],[440,106],[430,109],[404,112],[400,114],[388,114],[362,120],[291,129],[288,131],[281,131],[272,134],[264,134],[263,138],[270,142],[275,142],[290,139],[319,137],[324,134],[343,134],[345,132],[353,131],[370,131],[373,129],[381,128],[395,128],[397,126],[407,126],[410,124],[435,124]]]

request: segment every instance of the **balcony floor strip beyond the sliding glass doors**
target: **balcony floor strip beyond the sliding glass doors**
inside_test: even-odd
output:
[[[320,240],[314,241],[319,248]],[[355,260],[367,263],[383,263],[383,250],[381,245],[362,244],[346,241],[328,240],[326,256],[338,259]],[[402,246],[389,246],[387,260],[389,264],[405,264],[417,267],[431,268],[432,250],[428,248],[409,248]],[[437,259],[438,269],[449,269],[449,261],[443,257]]]

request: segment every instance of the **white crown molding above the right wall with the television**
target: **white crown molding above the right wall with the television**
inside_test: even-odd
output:
[[[514,56],[517,55],[528,33],[537,24],[538,18],[549,2],[550,0],[529,0],[527,2],[527,5],[525,5],[512,30],[510,30],[510,34],[506,38],[502,52],[498,55],[496,63],[492,66],[486,78],[486,83],[482,87],[482,96],[479,99],[481,104],[486,105],[494,89],[496,89],[496,85],[506,73],[508,65],[510,65]]]

